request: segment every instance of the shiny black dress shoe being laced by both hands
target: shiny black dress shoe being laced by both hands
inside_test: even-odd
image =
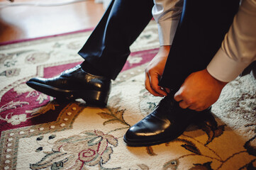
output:
[[[197,112],[182,109],[173,96],[160,101],[150,115],[133,125],[124,135],[128,146],[143,147],[157,145],[176,139],[198,118],[211,114],[211,108]]]

